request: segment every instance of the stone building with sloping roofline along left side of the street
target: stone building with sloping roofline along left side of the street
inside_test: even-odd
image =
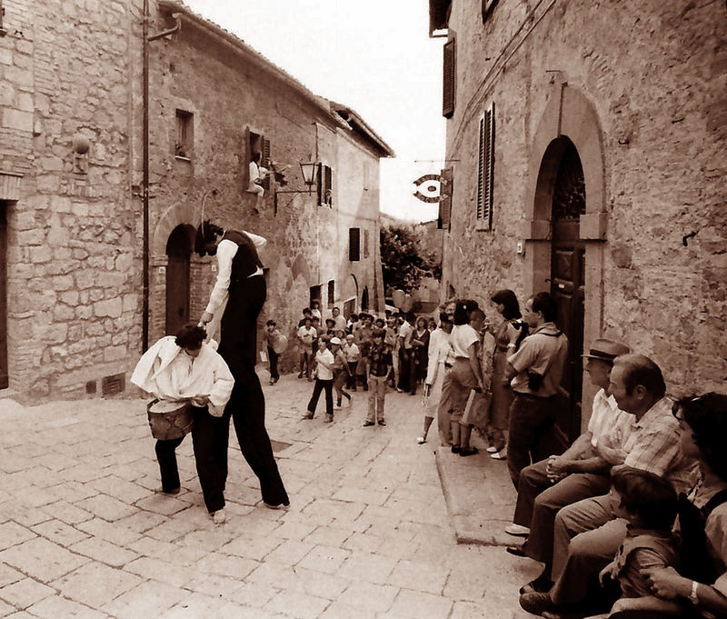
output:
[[[145,4],[2,0],[0,388],[20,399],[122,392],[144,343],[202,313],[215,275],[190,252],[203,203],[268,239],[263,319],[287,330],[311,298],[383,307],[391,149],[184,5],[152,1],[144,25]],[[246,192],[254,152],[289,165],[261,215]],[[310,195],[309,161],[323,170]]]

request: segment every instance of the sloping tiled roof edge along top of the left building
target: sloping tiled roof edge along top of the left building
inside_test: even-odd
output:
[[[287,71],[275,65],[271,60],[266,58],[250,45],[247,45],[239,36],[234,35],[229,30],[225,30],[220,25],[214,24],[214,22],[206,19],[202,15],[194,13],[194,11],[189,8],[189,6],[185,5],[184,2],[181,2],[181,0],[159,0],[158,4],[160,9],[169,11],[170,13],[180,13],[184,16],[184,18],[190,20],[195,25],[202,27],[212,35],[222,38],[228,44],[234,45],[240,53],[246,55],[252,62],[274,74],[278,77],[278,79],[283,81],[284,84],[290,86],[299,95],[304,96],[304,98],[317,106],[324,115],[331,118],[334,124],[345,127],[346,129],[352,129],[360,135],[363,135],[364,138],[381,150],[384,156],[394,156],[391,147],[387,145],[381,137],[376,135],[373,129],[364,122],[364,119],[360,115],[356,114],[356,112],[354,112],[354,110],[350,107],[336,104],[323,96],[315,95],[314,92],[295,79],[293,75],[290,75]],[[342,112],[344,114],[342,114]]]

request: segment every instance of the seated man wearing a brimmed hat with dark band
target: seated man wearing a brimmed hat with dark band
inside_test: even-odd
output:
[[[586,359],[585,371],[599,387],[593,396],[588,430],[559,456],[526,466],[520,473],[513,524],[505,527],[511,535],[528,535],[522,547],[508,549],[511,554],[527,555],[545,564],[543,574],[529,584],[535,591],[547,591],[553,562],[553,523],[565,505],[589,496],[607,493],[611,487],[612,464],[597,451],[621,450],[630,434],[634,417],[624,413],[608,392],[613,360],[628,354],[629,347],[607,339],[595,340]]]

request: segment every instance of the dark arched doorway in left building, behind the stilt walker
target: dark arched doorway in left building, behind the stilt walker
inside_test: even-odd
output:
[[[194,248],[194,228],[177,225],[166,242],[166,320],[164,332],[175,334],[189,322],[189,258]]]

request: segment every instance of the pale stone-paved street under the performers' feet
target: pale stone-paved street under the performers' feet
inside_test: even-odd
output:
[[[143,401],[0,400],[0,616],[529,616],[517,590],[536,565],[455,544],[433,433],[414,440],[419,397],[387,394],[388,425],[364,428],[359,391],[324,424],[323,401],[300,420],[311,384],[261,379],[292,505],[259,503],[235,444],[221,526],[204,510],[189,438],[178,450],[182,493],[154,492]]]

